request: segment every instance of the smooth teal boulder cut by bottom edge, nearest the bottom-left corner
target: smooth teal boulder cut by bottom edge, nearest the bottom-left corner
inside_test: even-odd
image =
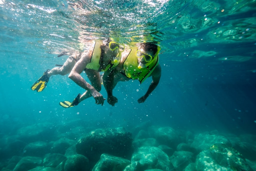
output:
[[[42,158],[27,156],[19,160],[13,171],[27,171],[41,165]]]

